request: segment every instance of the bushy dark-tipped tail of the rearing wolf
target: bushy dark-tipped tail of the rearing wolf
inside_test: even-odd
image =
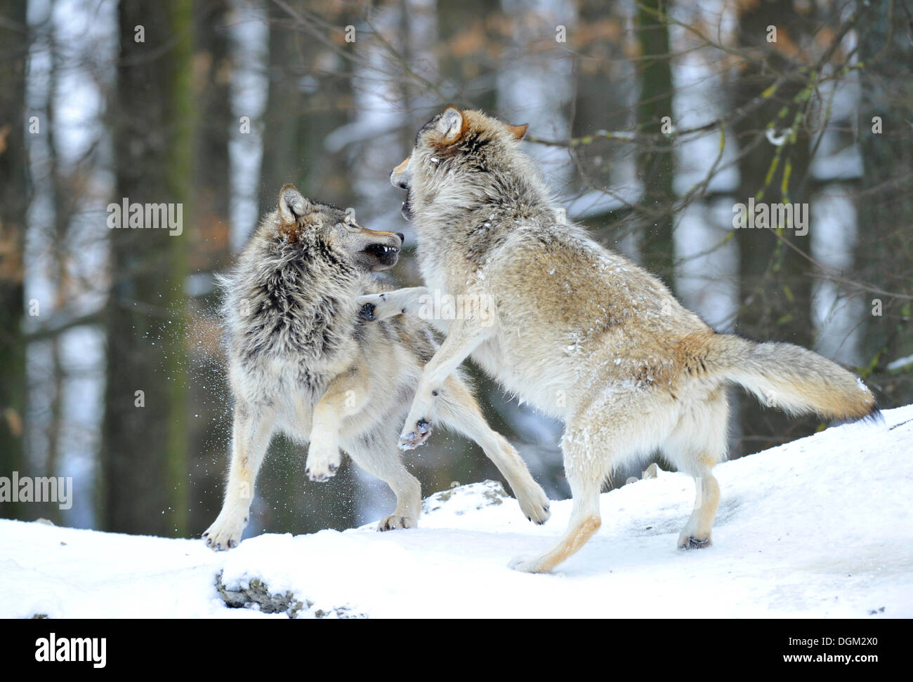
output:
[[[708,346],[708,370],[751,391],[765,405],[847,421],[879,414],[862,379],[800,346],[757,344],[727,334],[714,335]]]

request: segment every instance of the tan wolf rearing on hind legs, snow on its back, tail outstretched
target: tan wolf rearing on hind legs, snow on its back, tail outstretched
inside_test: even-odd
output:
[[[863,383],[799,346],[716,334],[656,277],[556,220],[556,203],[519,149],[526,126],[449,107],[418,131],[391,173],[408,192],[425,284],[493,301],[494,324],[455,320],[425,371],[400,447],[430,433],[445,378],[472,355],[543,412],[561,439],[573,511],[561,540],[510,565],[551,571],[600,526],[599,494],[614,467],[662,449],[691,474],[698,503],[678,537],[706,547],[719,504],[711,469],[725,459],[726,387],[738,384],[792,414],[857,419],[876,413]],[[383,319],[415,308],[427,290],[368,296]]]

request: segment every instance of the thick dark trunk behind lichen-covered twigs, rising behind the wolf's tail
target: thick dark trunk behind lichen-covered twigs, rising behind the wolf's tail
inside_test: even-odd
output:
[[[764,63],[775,70],[792,68],[780,57],[776,47],[767,43],[767,26],[777,26],[778,38],[786,37],[787,26],[784,17],[794,15],[791,0],[761,3],[745,9],[740,15],[739,45],[764,57]],[[793,29],[789,26],[790,31]],[[800,36],[790,36],[796,44],[802,44]],[[771,86],[773,77],[757,62],[742,68],[736,88],[736,107],[758,97]],[[739,162],[740,187],[737,201],[748,204],[751,197],[757,202],[808,202],[808,183],[803,183],[809,172],[809,139],[802,130],[796,139],[782,147],[775,147],[763,140],[767,125],[773,121],[778,130],[792,125],[796,112],[792,99],[800,86],[789,83],[780,88],[774,96],[751,116],[735,126],[739,144],[747,147],[761,138],[760,144]],[[788,113],[778,119],[782,108]],[[804,129],[804,128],[803,128]],[[781,159],[771,177],[768,173],[777,150]],[[782,179],[786,166],[792,168],[786,192],[782,192]],[[811,211],[810,211],[811,213]],[[814,229],[814,227],[810,227]],[[795,243],[806,253],[809,239],[795,236],[792,229],[782,230],[782,236]],[[812,281],[807,276],[810,263],[801,255],[782,244],[773,230],[738,230],[736,238],[740,252],[740,314],[736,331],[742,336],[763,341],[786,341],[799,346],[812,345],[811,296]],[[781,411],[764,408],[753,396],[741,394],[740,418],[743,439],[740,449],[733,457],[756,452],[779,443],[810,435],[818,425],[813,417],[792,418]]]

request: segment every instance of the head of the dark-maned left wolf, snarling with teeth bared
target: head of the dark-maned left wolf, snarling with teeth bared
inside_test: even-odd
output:
[[[278,238],[287,243],[323,243],[347,254],[368,272],[396,264],[403,246],[401,233],[376,232],[355,222],[352,212],[329,203],[311,202],[294,185],[279,191],[276,212]]]

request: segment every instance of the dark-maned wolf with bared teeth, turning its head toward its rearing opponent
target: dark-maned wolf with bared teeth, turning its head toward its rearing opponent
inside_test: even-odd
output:
[[[204,533],[213,549],[240,542],[257,470],[277,430],[310,442],[310,480],[328,480],[345,450],[396,494],[396,509],[378,530],[415,528],[421,491],[400,460],[396,434],[436,343],[425,322],[400,317],[370,324],[356,302],[358,294],[389,288],[371,273],[392,267],[402,243],[402,235],[366,230],[350,213],[310,202],[286,185],[278,210],[260,222],[224,278],[235,419],[225,502]],[[523,513],[545,522],[549,500],[517,451],[488,428],[456,373],[441,384],[443,423],[475,440]]]

